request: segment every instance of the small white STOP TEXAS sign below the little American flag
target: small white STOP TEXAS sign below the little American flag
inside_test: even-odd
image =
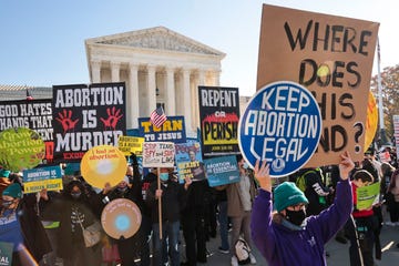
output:
[[[173,142],[144,142],[143,167],[173,167],[174,154]]]

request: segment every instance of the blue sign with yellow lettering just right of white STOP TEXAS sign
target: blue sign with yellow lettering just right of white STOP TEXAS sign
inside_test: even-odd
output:
[[[205,180],[205,167],[202,162],[201,145],[196,141],[175,145],[175,158],[180,183],[186,177],[193,181]]]

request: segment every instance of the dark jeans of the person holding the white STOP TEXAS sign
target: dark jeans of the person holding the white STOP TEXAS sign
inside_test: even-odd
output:
[[[160,239],[160,224],[153,224],[153,233],[154,266],[162,266],[168,262],[167,252],[171,255],[171,265],[180,266],[180,222],[162,223],[162,241]]]

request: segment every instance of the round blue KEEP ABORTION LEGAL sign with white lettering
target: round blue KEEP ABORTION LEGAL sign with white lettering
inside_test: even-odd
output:
[[[287,176],[315,153],[321,115],[313,94],[298,83],[267,84],[249,101],[238,125],[238,144],[247,163],[270,165],[270,176]]]

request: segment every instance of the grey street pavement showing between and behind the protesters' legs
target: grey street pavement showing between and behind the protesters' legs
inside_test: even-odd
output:
[[[385,215],[387,219],[387,215]],[[399,243],[399,226],[388,226],[383,225],[381,232],[381,247],[382,247],[382,258],[381,260],[376,260],[378,266],[395,266],[399,265],[399,248],[396,247],[396,244]],[[231,265],[231,254],[222,254],[217,250],[221,244],[218,235],[216,238],[211,238],[211,242],[207,243],[207,249],[209,256],[206,264],[197,264],[198,266],[208,265],[208,266],[228,266]],[[182,248],[182,254],[184,254],[184,244]],[[349,242],[347,244],[340,244],[334,238],[327,243],[326,250],[329,253],[327,257],[327,265],[329,266],[346,266],[349,265]],[[257,259],[256,265],[267,266],[266,260],[258,253],[257,249],[254,250],[255,257]],[[295,266],[295,262],[293,262]]]

